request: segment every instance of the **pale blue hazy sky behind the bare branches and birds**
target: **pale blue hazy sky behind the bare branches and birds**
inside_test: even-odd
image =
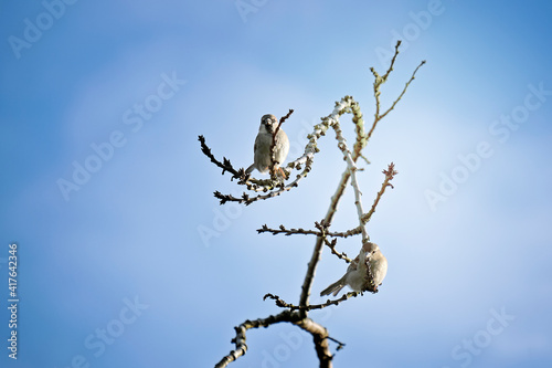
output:
[[[368,225],[389,273],[376,295],[311,317],[347,344],[336,367],[550,367],[552,6],[236,3],[2,1],[1,366],[212,367],[234,326],[278,313],[265,293],[296,303],[314,239],[255,230],[325,215],[344,168],[333,134],[296,190],[247,208],[219,206],[214,190],[238,188],[197,137],[246,167],[264,114],[295,109],[290,158],[344,95],[370,120],[369,67],[383,72],[401,38],[383,106],[427,64],[359,176],[368,207],[381,170],[400,172]],[[350,117],[342,126],[352,141]],[[357,223],[351,190],[343,200],[340,230]],[[358,241],[340,246],[354,254]],[[323,253],[314,295],[342,275],[338,261]],[[232,367],[317,366],[287,324],[247,344]]]

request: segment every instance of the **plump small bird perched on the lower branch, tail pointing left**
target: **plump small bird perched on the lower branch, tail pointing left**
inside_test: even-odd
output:
[[[363,260],[363,262],[359,262],[359,260]],[[375,285],[375,287],[373,288],[368,274],[367,261],[370,262],[370,269],[372,271],[372,276]],[[385,259],[385,256],[382,254],[378,244],[365,242],[362,245],[359,255],[357,255],[357,257],[347,269],[343,277],[339,278],[333,284],[322,290],[320,292],[320,296],[330,295],[332,293],[333,296],[336,296],[346,285],[349,285],[349,287],[358,293],[367,291],[375,293],[378,292],[378,286],[381,285],[386,273],[388,259]]]

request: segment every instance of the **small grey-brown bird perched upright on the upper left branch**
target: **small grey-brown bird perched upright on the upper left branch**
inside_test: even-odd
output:
[[[258,172],[265,174],[270,168],[270,146],[273,144],[274,130],[278,126],[278,119],[272,114],[263,115],[261,118],[261,126],[258,127],[257,138],[255,139],[254,161],[245,170],[245,174],[251,174],[254,169]],[[289,139],[286,133],[280,128],[276,134],[275,147],[274,147],[274,169],[278,170],[279,166],[286,160],[287,154],[289,153]],[[279,169],[282,171],[282,169]]]

